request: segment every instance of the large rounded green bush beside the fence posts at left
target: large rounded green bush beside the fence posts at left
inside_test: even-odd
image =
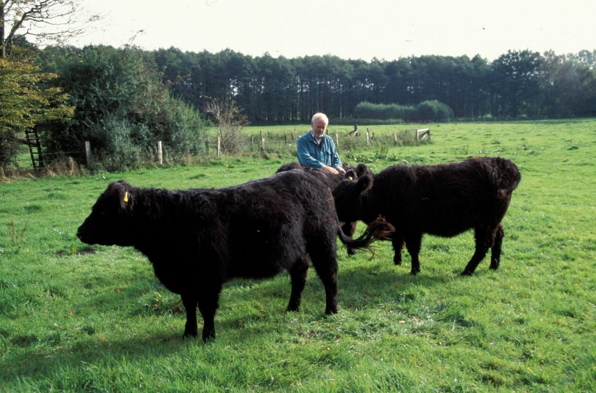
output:
[[[50,67],[76,110],[69,122],[39,127],[48,153],[68,152],[83,163],[90,141],[95,167],[119,171],[154,162],[157,141],[170,162],[202,151],[200,113],[170,95],[140,50],[85,47],[58,58]]]

